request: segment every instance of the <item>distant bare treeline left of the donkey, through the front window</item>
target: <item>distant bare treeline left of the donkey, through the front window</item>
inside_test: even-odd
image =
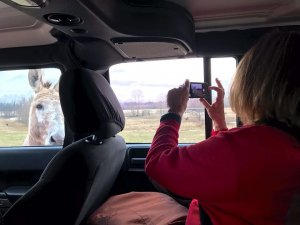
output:
[[[31,98],[23,98],[18,101],[0,102],[0,117],[15,118],[19,122],[27,125],[31,101]]]

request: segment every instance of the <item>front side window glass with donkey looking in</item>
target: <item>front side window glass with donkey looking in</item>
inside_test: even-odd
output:
[[[62,145],[56,68],[0,71],[0,147]]]

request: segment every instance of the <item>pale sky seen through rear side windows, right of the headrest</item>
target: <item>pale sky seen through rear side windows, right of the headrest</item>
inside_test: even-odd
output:
[[[218,77],[226,92],[235,64],[233,58],[212,60],[212,78]],[[132,100],[134,90],[143,92],[144,101],[165,99],[168,90],[183,84],[185,79],[203,82],[203,77],[201,58],[122,63],[110,68],[110,81],[121,102]]]

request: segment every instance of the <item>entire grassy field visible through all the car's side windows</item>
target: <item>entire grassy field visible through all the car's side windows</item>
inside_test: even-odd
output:
[[[225,110],[229,127],[235,125],[235,115]],[[126,126],[120,133],[127,143],[151,143],[159,126],[160,113],[154,111],[147,116],[126,116]],[[20,146],[27,134],[27,127],[14,120],[0,118],[0,146]],[[179,133],[180,143],[194,143],[205,139],[204,114],[185,113]]]

